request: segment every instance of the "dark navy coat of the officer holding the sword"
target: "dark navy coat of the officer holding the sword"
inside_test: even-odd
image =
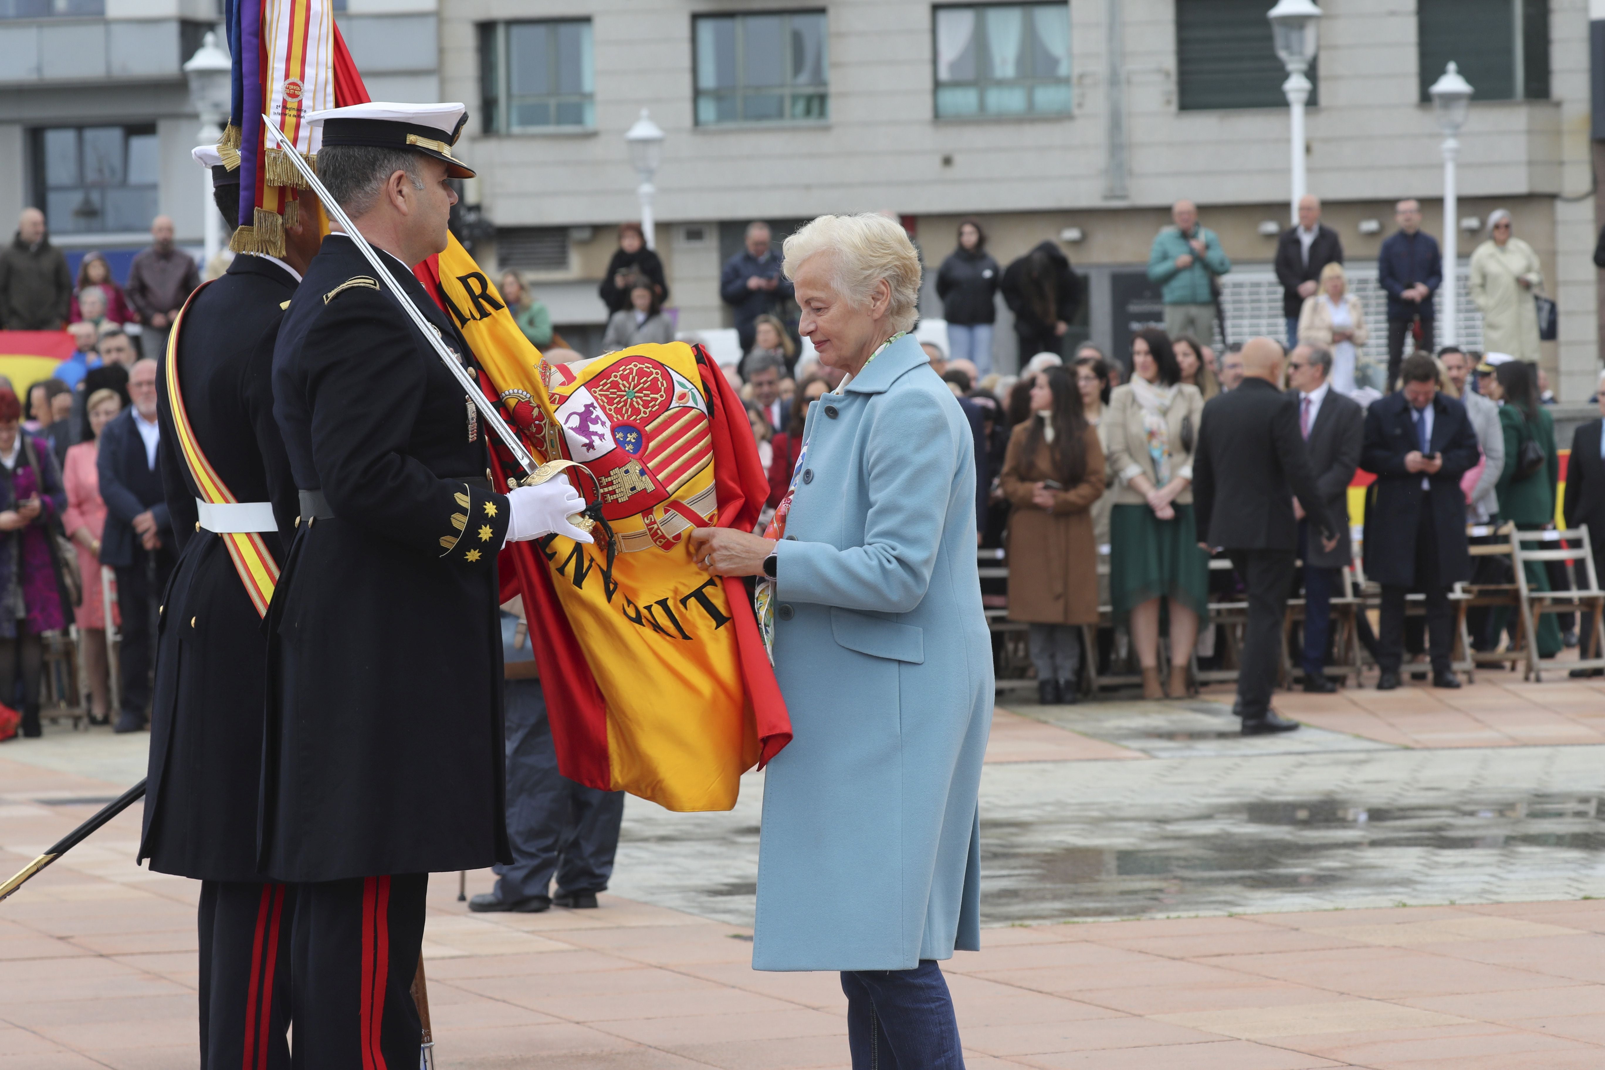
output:
[[[392,278],[467,345],[400,260]],[[268,619],[258,861],[281,881],[510,861],[496,552],[507,499],[486,428],[342,234],[324,239],[273,355],[303,515]]]

